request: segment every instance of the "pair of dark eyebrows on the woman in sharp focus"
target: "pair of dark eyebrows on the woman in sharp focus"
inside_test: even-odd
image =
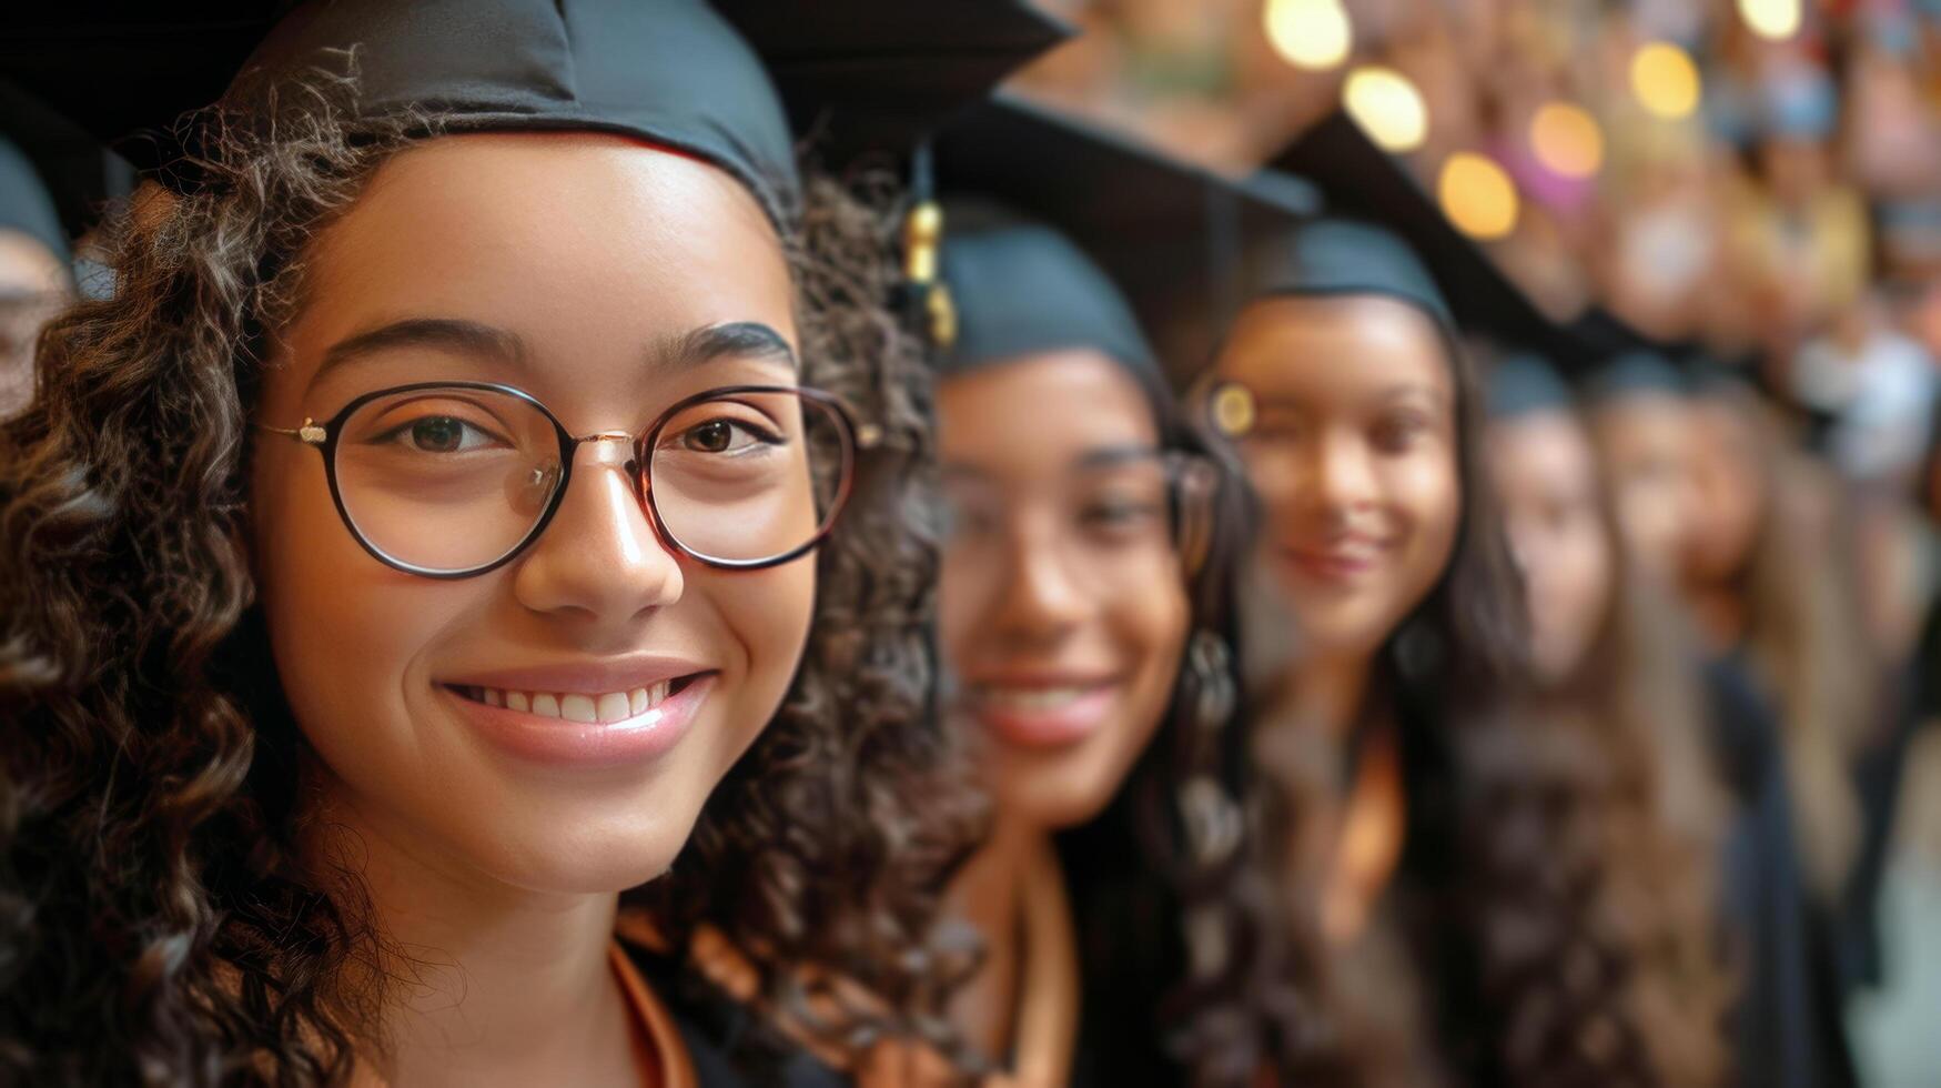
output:
[[[400,348],[485,356],[516,367],[524,367],[530,356],[526,342],[507,328],[456,317],[408,317],[369,332],[357,332],[326,348],[324,361],[311,375],[311,383],[314,385],[324,373],[344,363]],[[662,344],[650,357],[672,369],[699,367],[724,357],[776,359],[788,363],[790,369],[798,365],[788,340],[759,321],[728,321],[693,328]]]

